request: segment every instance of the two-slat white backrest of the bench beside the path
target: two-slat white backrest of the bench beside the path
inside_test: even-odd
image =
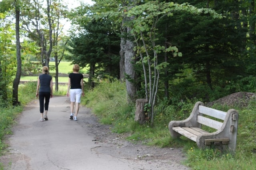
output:
[[[222,127],[223,121],[227,115],[227,113],[224,111],[219,111],[219,110],[205,107],[202,105],[198,106],[198,113],[199,113],[199,115],[197,115],[198,123],[202,125],[206,125],[211,128],[215,128],[217,130],[219,130]],[[220,119],[222,120],[222,122],[210,119],[208,117],[205,117],[204,115],[208,115],[210,117]]]

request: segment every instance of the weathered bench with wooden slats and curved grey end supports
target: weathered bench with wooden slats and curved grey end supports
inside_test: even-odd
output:
[[[202,125],[216,129],[207,132]],[[238,128],[238,112],[234,109],[228,112],[204,107],[202,102],[196,102],[190,116],[182,121],[170,121],[169,130],[173,138],[186,136],[196,142],[199,148],[215,145],[222,151],[235,153]]]

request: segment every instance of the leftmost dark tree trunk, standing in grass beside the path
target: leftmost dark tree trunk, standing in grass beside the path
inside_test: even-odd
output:
[[[16,2],[17,3],[17,2]],[[12,83],[12,105],[19,105],[18,101],[18,87],[21,76],[21,54],[20,54],[20,10],[18,10],[18,4],[15,7],[15,32],[16,32],[16,57],[17,57],[17,71],[15,79]]]

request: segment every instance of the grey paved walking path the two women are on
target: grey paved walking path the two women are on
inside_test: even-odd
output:
[[[81,120],[90,119],[90,109],[80,107],[78,121],[69,119],[70,99],[50,99],[48,121],[40,122],[39,101],[30,103],[8,139],[10,153],[0,158],[11,162],[6,170],[167,170],[187,169],[179,164],[127,159],[97,151],[95,142]],[[81,119],[80,119],[81,118]],[[104,147],[100,148],[101,150]]]

